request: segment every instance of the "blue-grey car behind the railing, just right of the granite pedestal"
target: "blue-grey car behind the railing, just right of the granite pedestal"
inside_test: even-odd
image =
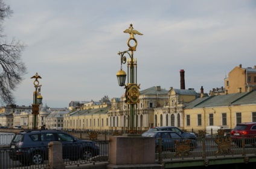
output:
[[[156,138],[156,152],[159,149],[159,140],[158,138],[162,138],[162,150],[163,151],[174,151],[175,150],[175,141],[184,141],[188,140],[187,138],[182,137],[176,132],[173,131],[149,131],[142,133],[142,136],[149,136]],[[196,139],[190,139],[190,150],[197,147]]]

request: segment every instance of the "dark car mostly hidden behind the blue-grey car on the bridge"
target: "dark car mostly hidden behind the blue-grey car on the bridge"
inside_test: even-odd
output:
[[[181,135],[184,138],[196,139],[196,135],[194,133],[184,132],[181,129],[179,129],[178,127],[174,127],[174,126],[153,127],[151,129],[147,130],[147,132],[151,132],[151,131],[173,131],[173,132],[178,133],[179,135]]]

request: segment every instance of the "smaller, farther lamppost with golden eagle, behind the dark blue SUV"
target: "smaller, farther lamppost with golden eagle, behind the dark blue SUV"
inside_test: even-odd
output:
[[[34,75],[31,78],[35,78],[34,80],[35,91],[33,92],[32,115],[33,115],[33,129],[37,130],[37,116],[39,115],[39,106],[40,104],[42,104],[42,100],[43,100],[43,97],[40,94],[42,84],[39,85],[39,81],[37,79],[42,77],[40,77],[40,75],[36,73],[36,75]]]

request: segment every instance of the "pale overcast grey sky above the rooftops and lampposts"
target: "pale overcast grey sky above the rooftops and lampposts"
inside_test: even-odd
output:
[[[256,1],[8,0],[14,11],[5,34],[27,45],[22,60],[28,74],[14,95],[16,104],[33,103],[34,79],[42,77],[43,103],[68,107],[70,101],[121,97],[119,51],[128,49],[133,28],[142,36],[138,60],[141,90],[152,86],[209,93],[224,86],[235,66],[256,65]],[[127,65],[123,66],[127,72]],[[5,106],[5,105],[2,105]]]

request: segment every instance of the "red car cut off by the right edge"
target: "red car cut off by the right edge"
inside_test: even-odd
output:
[[[256,143],[256,122],[240,123],[231,131],[231,138],[238,147],[242,147],[242,138],[245,144],[255,145]]]

